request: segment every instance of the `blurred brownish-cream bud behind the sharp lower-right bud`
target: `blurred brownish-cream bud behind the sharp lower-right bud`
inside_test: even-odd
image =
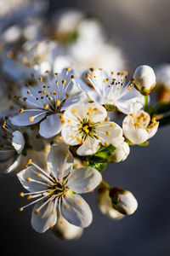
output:
[[[122,219],[124,215],[113,208],[109,192],[110,191],[108,189],[99,189],[99,210],[107,217],[112,218],[114,220]]]

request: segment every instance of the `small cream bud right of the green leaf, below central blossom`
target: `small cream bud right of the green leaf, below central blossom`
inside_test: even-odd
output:
[[[127,143],[122,143],[116,148],[113,155],[111,155],[111,162],[118,163],[127,159],[127,155],[130,153],[130,148]]]

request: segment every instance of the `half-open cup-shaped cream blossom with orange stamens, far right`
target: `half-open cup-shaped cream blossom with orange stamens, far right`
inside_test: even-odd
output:
[[[156,134],[158,125],[155,118],[150,121],[149,113],[139,110],[126,116],[122,122],[122,130],[131,143],[141,144]]]

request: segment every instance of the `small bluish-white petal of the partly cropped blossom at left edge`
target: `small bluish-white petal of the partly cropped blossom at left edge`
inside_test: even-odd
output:
[[[22,152],[25,145],[25,139],[20,131],[13,132],[12,145],[18,154]]]

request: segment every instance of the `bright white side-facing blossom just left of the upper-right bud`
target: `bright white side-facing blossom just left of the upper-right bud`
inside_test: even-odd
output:
[[[87,84],[80,83],[81,89],[94,102],[114,105],[125,114],[143,107],[144,96],[141,96],[131,82],[126,84],[126,73],[108,75],[103,70],[91,68],[82,77]]]

